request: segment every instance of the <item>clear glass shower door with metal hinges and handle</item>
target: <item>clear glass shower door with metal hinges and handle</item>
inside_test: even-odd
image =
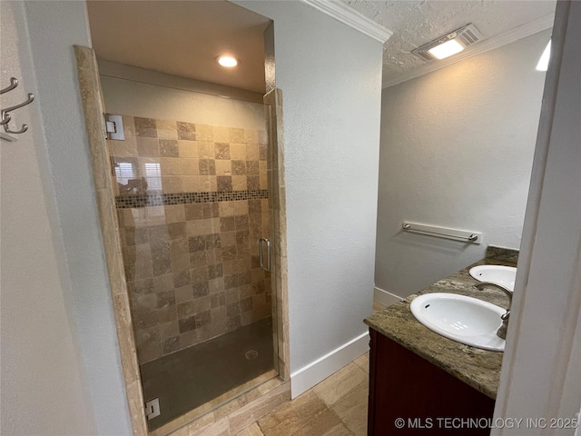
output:
[[[143,394],[160,404],[153,431],[277,373],[258,244],[270,236],[268,137],[122,115],[125,141],[109,145]]]

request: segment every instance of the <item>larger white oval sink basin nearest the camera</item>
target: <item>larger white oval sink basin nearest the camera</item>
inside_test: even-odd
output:
[[[452,341],[503,352],[505,340],[497,336],[504,309],[454,293],[427,293],[409,305],[419,322]]]

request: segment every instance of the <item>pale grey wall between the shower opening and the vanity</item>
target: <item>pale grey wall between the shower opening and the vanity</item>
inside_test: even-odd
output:
[[[302,2],[234,3],[274,20],[292,373],[367,331],[382,44]]]

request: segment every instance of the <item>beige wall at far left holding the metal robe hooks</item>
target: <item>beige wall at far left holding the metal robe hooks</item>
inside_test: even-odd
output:
[[[19,85],[3,107],[36,93],[20,2],[1,2],[2,72]],[[38,96],[38,94],[37,94]],[[96,434],[84,362],[72,315],[64,247],[54,214],[37,100],[13,115],[18,141],[0,141],[2,177],[2,411],[0,432],[11,436]],[[16,136],[16,135],[15,135]],[[60,271],[59,271],[60,270]]]

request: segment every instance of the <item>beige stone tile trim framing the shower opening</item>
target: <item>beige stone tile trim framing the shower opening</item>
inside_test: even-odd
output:
[[[117,340],[119,342],[123,380],[125,382],[127,404],[133,425],[133,434],[136,436],[157,434],[158,431],[149,432],[147,430],[143,402],[143,386],[137,360],[132,313],[121,254],[122,245],[119,236],[119,223],[114,202],[113,179],[111,176],[112,166],[109,158],[108,140],[104,135],[103,92],[100,84],[98,66],[92,48],[75,45],[74,54],[77,61],[79,88],[84,108],[85,129],[92,156],[96,201],[99,210],[101,232],[103,234],[103,248],[113,300],[113,316],[117,331]],[[273,89],[264,95],[264,104],[266,107],[270,107],[271,112],[271,123],[268,126],[267,175],[271,239],[274,242],[271,251],[271,264],[273,266],[271,273],[273,290],[272,320],[277,333],[274,336],[278,342],[275,343],[275,350],[278,348],[278,380],[280,382],[274,384],[269,384],[269,381],[263,382],[255,388],[263,388],[260,390],[261,396],[244,406],[245,409],[250,406],[248,412],[251,412],[253,411],[251,407],[252,403],[256,403],[256,410],[260,410],[261,415],[267,413],[281,402],[291,399],[290,366],[288,362],[289,308],[281,90]],[[236,398],[234,397],[230,401],[235,401]],[[264,403],[267,403],[268,406],[265,407]],[[260,418],[256,413],[251,412],[250,414],[253,421]],[[195,424],[196,420],[202,419],[205,416],[202,415],[201,417],[195,418],[192,422]],[[172,424],[172,429],[170,430],[164,426],[163,434],[172,434],[184,425],[191,423],[180,418],[166,424],[168,426]],[[208,423],[208,425],[212,425],[212,421],[206,421],[208,420],[205,420],[204,424]],[[251,422],[246,422],[246,420],[237,417],[235,421],[236,428],[233,430],[237,430],[236,432],[241,431],[245,425],[250,425]],[[229,425],[232,427],[231,422]]]

